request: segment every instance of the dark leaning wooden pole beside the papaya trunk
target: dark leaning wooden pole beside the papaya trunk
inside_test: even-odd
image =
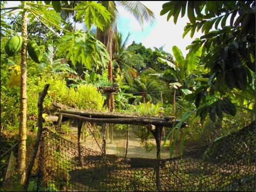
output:
[[[32,152],[32,155],[31,155],[31,159],[29,161],[27,175],[26,175],[26,178],[25,178],[24,186],[23,186],[24,191],[27,191],[27,189],[28,189],[29,177],[30,177],[30,174],[31,174],[31,171],[32,171],[32,167],[33,167],[35,157],[36,157],[36,154],[37,154],[37,151],[38,151],[39,143],[40,143],[40,138],[41,138],[41,134],[42,134],[42,120],[43,120],[43,118],[42,118],[42,110],[43,110],[42,103],[44,102],[44,99],[46,97],[47,90],[48,90],[49,86],[50,86],[49,84],[46,84],[42,93],[39,93],[39,98],[38,98],[38,103],[37,103],[37,107],[38,107],[38,119],[37,119],[38,131],[37,131],[33,152]]]

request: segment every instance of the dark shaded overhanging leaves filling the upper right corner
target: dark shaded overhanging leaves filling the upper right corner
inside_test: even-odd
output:
[[[209,70],[186,97],[198,108],[201,123],[207,114],[215,122],[223,112],[236,115],[238,108],[255,114],[255,1],[171,1],[160,14],[174,23],[186,14],[183,37],[204,33],[187,46],[189,54],[202,47],[201,62]],[[209,102],[214,96],[218,100]]]

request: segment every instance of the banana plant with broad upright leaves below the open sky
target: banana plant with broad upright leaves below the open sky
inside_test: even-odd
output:
[[[194,54],[187,54],[186,58],[182,55],[177,46],[173,46],[173,53],[176,63],[172,63],[163,58],[158,61],[167,65],[163,73],[156,73],[153,69],[148,69],[147,74],[156,77],[160,81],[164,81],[169,88],[174,89],[174,111],[176,111],[176,95],[184,96],[192,93],[196,89],[200,80],[200,74],[205,73],[203,66],[200,65],[200,57],[202,49]],[[195,75],[198,74],[198,75]]]

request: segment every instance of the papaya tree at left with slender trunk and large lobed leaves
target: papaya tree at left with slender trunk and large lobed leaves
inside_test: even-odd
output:
[[[64,2],[65,4],[69,4],[69,2]],[[108,23],[110,20],[109,12],[100,4],[96,2],[82,2],[83,6],[79,8],[74,8],[77,11],[78,16],[84,18],[84,22],[86,22],[87,26],[95,25],[99,29],[103,29],[104,23]],[[23,184],[26,177],[26,139],[27,139],[27,48],[30,47],[30,57],[35,60],[35,62],[41,61],[41,51],[38,49],[37,45],[31,44],[29,46],[28,43],[28,31],[27,24],[31,20],[40,21],[46,28],[53,32],[54,35],[60,37],[64,33],[67,35],[67,38],[72,37],[72,32],[61,28],[62,22],[59,12],[62,9],[61,2],[29,2],[22,1],[20,5],[17,7],[5,8],[4,3],[1,3],[1,28],[6,28],[6,15],[18,13],[22,15],[21,21],[21,37],[22,37],[22,47],[20,51],[21,55],[21,63],[20,63],[20,121],[19,121],[19,146],[18,146],[18,171],[21,175],[20,184]],[[93,10],[93,11],[92,11]],[[97,14],[98,17],[94,17],[94,14]],[[2,22],[3,20],[3,22]],[[59,33],[53,30],[53,27],[59,30]],[[1,30],[2,31],[2,30]],[[2,33],[1,33],[2,35]],[[88,63],[90,61],[94,61],[95,56],[96,59],[99,59],[99,55],[104,53],[104,57],[100,57],[102,59],[95,60],[97,62],[109,62],[108,52],[102,44],[97,43],[97,41],[90,35],[86,34],[73,34],[74,45],[72,46],[74,52],[69,53],[68,58],[72,61],[81,60],[83,64],[86,64],[87,67],[90,67]],[[65,38],[61,40],[65,41]],[[60,43],[61,44],[61,43]],[[86,46],[84,44],[89,44],[90,46]],[[81,48],[82,47],[82,48]],[[78,51],[79,50],[79,51]],[[100,53],[99,53],[100,50]],[[71,50],[70,50],[71,51]],[[90,53],[90,54],[88,54]]]

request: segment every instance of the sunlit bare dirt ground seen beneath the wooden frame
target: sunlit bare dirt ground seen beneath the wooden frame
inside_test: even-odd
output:
[[[73,132],[75,136],[77,136],[76,132]],[[126,139],[125,134],[113,134],[113,140],[110,138],[106,139],[106,154],[114,154],[116,156],[125,156],[125,148],[126,148]],[[154,148],[150,152],[146,152],[145,148],[140,145],[140,138],[133,132],[129,132],[129,142],[128,142],[128,150],[127,157],[141,157],[141,158],[157,158],[157,150],[156,150],[156,141],[155,139],[151,139],[151,142],[154,143]],[[98,142],[98,144],[97,144]],[[102,148],[102,138],[97,138],[97,142],[95,141],[92,135],[86,137],[86,139],[81,140],[81,144],[84,147],[96,150],[101,152],[100,148]],[[162,149],[161,158],[169,158],[169,148],[165,147]]]

